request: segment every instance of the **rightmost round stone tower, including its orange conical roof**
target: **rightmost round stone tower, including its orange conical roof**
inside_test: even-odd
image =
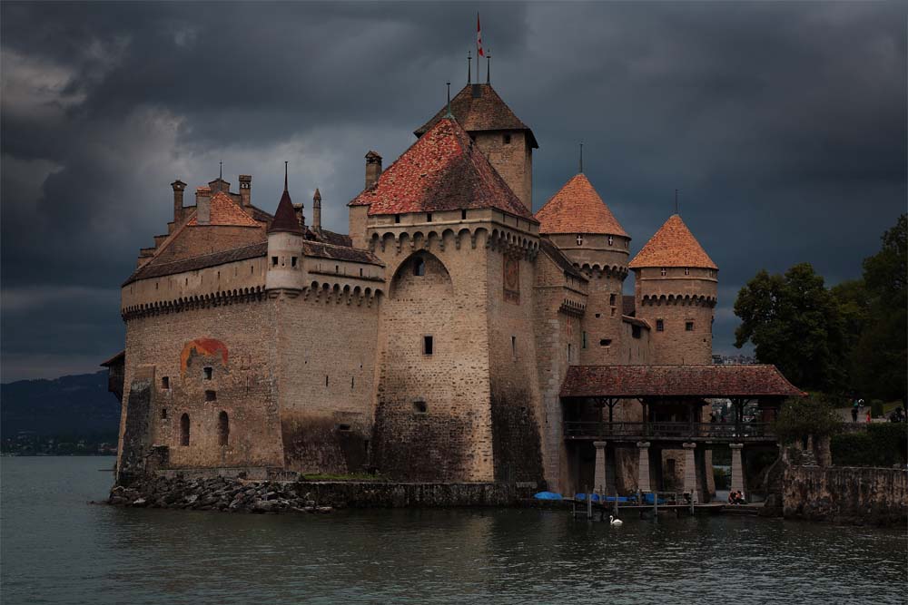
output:
[[[637,317],[652,328],[653,363],[712,363],[718,268],[681,217],[666,220],[629,267]]]

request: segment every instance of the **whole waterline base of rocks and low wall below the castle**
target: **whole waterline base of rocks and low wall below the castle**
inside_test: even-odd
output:
[[[116,486],[108,503],[221,512],[327,512],[333,508],[514,506],[535,483],[383,483],[251,481],[160,475]]]

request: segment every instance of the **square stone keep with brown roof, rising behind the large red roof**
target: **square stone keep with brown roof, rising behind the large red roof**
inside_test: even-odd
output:
[[[467,84],[451,99],[450,110],[492,167],[508,183],[528,211],[533,211],[533,150],[536,136],[520,122],[491,84]],[[448,112],[443,107],[414,134],[429,132]]]

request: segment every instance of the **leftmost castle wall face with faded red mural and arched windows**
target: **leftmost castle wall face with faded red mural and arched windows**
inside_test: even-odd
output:
[[[168,446],[169,465],[281,466],[275,342],[262,337],[274,317],[260,294],[127,321],[121,445],[137,379],[150,382],[146,445]]]

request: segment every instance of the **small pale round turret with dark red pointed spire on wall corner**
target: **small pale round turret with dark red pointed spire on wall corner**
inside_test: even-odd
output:
[[[268,228],[268,275],[265,289],[299,291],[303,288],[302,243],[305,239],[287,190],[284,164],[284,190],[274,220]]]

